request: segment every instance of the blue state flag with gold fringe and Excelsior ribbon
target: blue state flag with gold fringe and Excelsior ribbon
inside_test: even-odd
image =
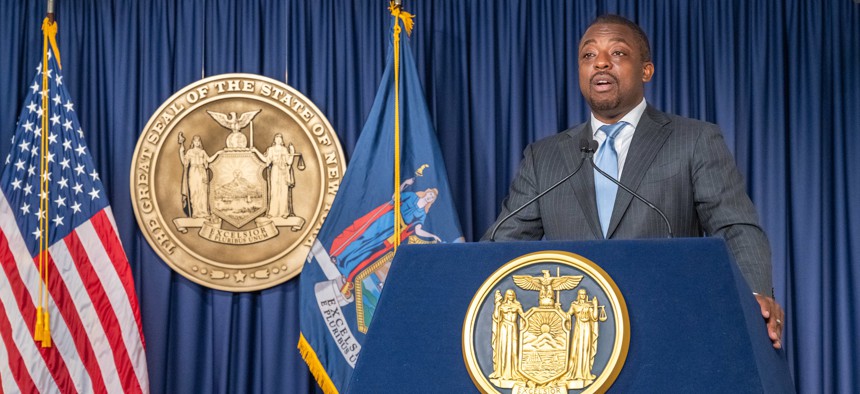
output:
[[[349,383],[398,245],[463,241],[403,34],[411,31],[412,15],[389,8],[392,40],[382,82],[300,276],[298,347],[326,393]]]

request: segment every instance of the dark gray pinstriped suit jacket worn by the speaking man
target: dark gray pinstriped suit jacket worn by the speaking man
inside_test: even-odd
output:
[[[529,145],[499,219],[576,169],[590,122]],[[770,246],[719,127],[646,108],[627,153],[621,182],[665,212],[676,237],[726,240],[753,291],[772,291]],[[497,219],[497,221],[499,220]],[[484,239],[489,238],[490,232]],[[603,239],[594,171],[586,162],[565,184],[499,227],[496,240]],[[619,189],[607,238],[665,238],[660,215]]]

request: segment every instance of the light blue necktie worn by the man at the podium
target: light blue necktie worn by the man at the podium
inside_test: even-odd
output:
[[[618,152],[615,151],[615,137],[626,125],[627,122],[618,122],[601,126],[599,129],[606,134],[606,140],[600,144],[594,162],[601,170],[615,179],[618,179]],[[594,191],[597,195],[597,216],[600,218],[600,228],[605,237],[609,231],[609,219],[612,217],[612,207],[615,205],[615,194],[618,192],[618,186],[594,170]]]

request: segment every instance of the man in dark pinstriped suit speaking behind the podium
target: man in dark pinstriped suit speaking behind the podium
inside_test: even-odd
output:
[[[582,158],[580,141],[595,139],[597,166],[661,207],[676,236],[726,240],[780,348],[784,314],[770,296],[770,246],[743,179],[716,125],[646,103],[644,86],[654,75],[650,52],[642,29],[623,17],[602,16],[589,26],[578,56],[591,120],[526,148],[498,220],[570,174]],[[501,224],[495,239],[666,236],[656,212],[588,165],[583,169]]]

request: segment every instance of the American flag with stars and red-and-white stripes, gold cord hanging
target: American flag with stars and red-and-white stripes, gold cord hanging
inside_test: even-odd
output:
[[[0,194],[0,392],[148,392],[140,311],[106,190],[52,52],[24,100]],[[49,111],[43,113],[42,97]],[[39,306],[42,117],[48,117],[48,314]]]

